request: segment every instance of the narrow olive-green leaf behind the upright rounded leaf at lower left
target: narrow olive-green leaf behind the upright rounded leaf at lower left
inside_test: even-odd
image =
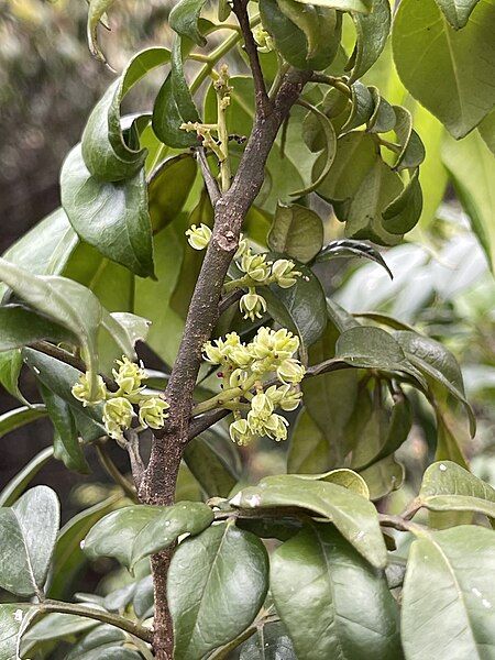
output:
[[[119,499],[120,495],[114,495],[79,512],[61,529],[53,553],[48,597],[61,600],[72,595],[74,580],[86,563],[86,557],[80,547],[81,541],[91,527],[118,505]]]

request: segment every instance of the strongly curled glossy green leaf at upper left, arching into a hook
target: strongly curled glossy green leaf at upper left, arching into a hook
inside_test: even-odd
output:
[[[82,158],[91,176],[103,182],[118,182],[134,177],[143,167],[147,152],[133,147],[132,142],[136,142],[134,125],[128,129],[128,135],[122,132],[120,105],[150,70],[169,59],[167,48],[146,48],[138,53],[95,106],[81,138]]]

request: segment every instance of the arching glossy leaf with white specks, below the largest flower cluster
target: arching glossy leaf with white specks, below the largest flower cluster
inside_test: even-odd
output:
[[[249,510],[297,507],[333,522],[340,534],[376,566],[386,564],[386,548],[375,507],[353,491],[329,482],[284,474],[267,476],[240,491],[230,503]]]

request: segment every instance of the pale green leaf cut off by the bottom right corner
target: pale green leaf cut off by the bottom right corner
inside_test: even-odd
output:
[[[407,660],[493,656],[493,548],[494,532],[474,526],[428,532],[414,541],[403,590]]]

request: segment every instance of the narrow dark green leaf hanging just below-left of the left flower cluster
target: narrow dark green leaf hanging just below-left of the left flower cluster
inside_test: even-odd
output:
[[[55,429],[54,457],[68,470],[89,474],[90,469],[79,444],[76,420],[69,404],[44,385],[40,386],[40,392]]]

